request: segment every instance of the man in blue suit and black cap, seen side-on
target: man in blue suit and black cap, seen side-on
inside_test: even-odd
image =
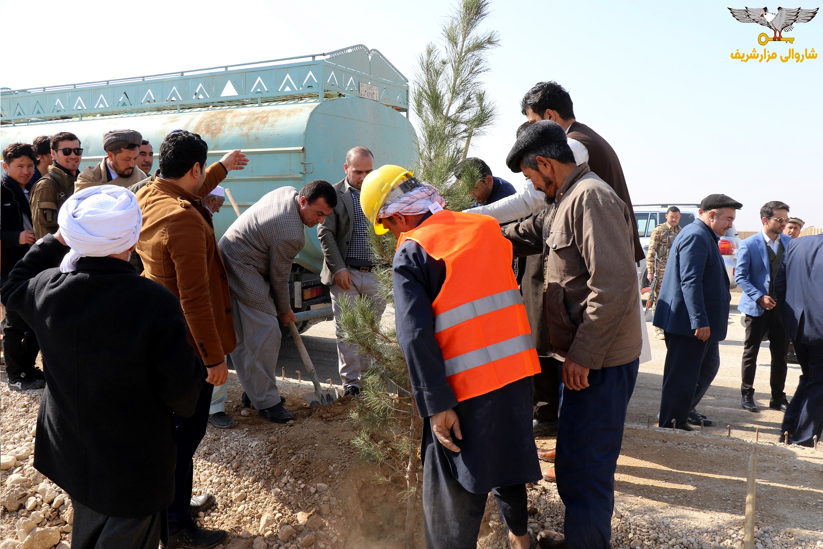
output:
[[[683,227],[672,245],[653,324],[663,328],[666,364],[660,398],[660,426],[692,430],[690,414],[720,368],[718,342],[728,328],[728,275],[718,249],[732,227],[740,202],[710,194],[700,202],[700,217]],[[700,416],[705,425],[710,422]]]

